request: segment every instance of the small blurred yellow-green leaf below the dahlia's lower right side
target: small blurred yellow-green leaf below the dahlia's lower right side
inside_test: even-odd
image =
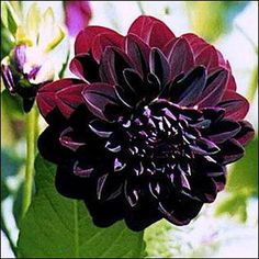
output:
[[[219,216],[228,214],[230,216],[237,216],[240,222],[247,219],[247,195],[243,193],[230,194],[227,199],[221,202],[216,210],[215,215]]]

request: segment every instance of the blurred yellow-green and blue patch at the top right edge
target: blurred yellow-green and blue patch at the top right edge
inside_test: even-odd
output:
[[[185,1],[191,24],[195,33],[209,42],[227,33],[235,16],[249,1]]]

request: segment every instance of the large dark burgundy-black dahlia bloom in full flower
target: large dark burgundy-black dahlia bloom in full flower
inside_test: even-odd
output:
[[[188,224],[223,190],[226,165],[254,135],[229,64],[196,35],[176,37],[150,16],[126,36],[89,26],[75,50],[79,79],[36,97],[49,124],[38,148],[57,165],[57,190],[83,200],[98,226]]]

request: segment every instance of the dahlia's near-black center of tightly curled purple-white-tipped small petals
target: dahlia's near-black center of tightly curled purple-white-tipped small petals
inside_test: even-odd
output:
[[[192,158],[190,144],[196,138],[188,122],[167,106],[144,106],[130,119],[120,117],[119,123],[125,133],[123,158],[120,156],[114,168],[130,164],[140,174],[144,168],[150,174],[172,170],[178,164],[190,168]]]

